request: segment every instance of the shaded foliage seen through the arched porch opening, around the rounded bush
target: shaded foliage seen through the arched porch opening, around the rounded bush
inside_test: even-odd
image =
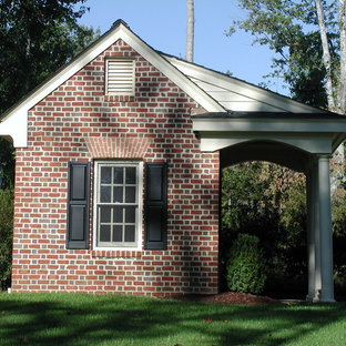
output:
[[[306,176],[268,161],[223,167],[221,184],[221,291],[226,262],[238,234],[260,238],[266,258],[263,294],[305,299],[307,294]]]

